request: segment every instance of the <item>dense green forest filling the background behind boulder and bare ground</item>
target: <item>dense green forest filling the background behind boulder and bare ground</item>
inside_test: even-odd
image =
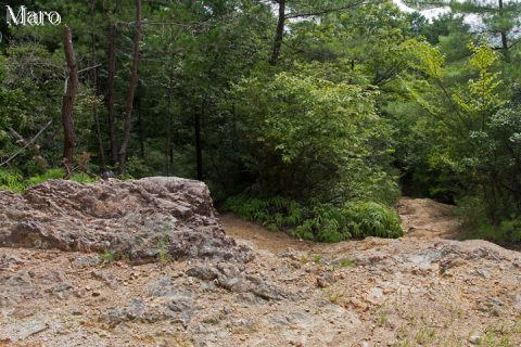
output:
[[[62,24],[0,23],[2,189],[194,178],[223,208],[322,242],[402,235],[402,190],[521,242],[514,1],[432,21],[380,0],[7,4]]]

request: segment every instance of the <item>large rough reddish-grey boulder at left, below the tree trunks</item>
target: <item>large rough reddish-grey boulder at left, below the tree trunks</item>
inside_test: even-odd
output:
[[[138,262],[251,258],[225,235],[203,182],[165,177],[0,191],[0,246],[112,252]]]

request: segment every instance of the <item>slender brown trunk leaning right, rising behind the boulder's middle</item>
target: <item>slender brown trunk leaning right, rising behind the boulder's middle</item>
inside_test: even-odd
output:
[[[126,171],[127,149],[132,127],[132,106],[136,86],[138,85],[139,69],[139,37],[141,34],[141,0],[136,0],[136,31],[134,34],[132,72],[128,86],[127,101],[125,104],[125,128],[123,132],[122,147],[119,150],[119,172]]]

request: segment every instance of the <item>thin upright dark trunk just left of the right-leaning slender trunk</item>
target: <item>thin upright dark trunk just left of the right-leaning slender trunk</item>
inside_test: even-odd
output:
[[[109,120],[109,141],[111,145],[112,164],[117,163],[116,124],[114,117],[114,79],[116,76],[116,37],[117,29],[114,23],[109,25],[109,76],[106,79],[106,111]]]

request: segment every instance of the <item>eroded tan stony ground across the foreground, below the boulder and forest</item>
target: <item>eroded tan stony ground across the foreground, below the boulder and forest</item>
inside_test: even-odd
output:
[[[227,259],[2,247],[0,346],[519,346],[521,256],[441,239],[449,209],[402,200],[405,237],[334,245],[224,216]]]

